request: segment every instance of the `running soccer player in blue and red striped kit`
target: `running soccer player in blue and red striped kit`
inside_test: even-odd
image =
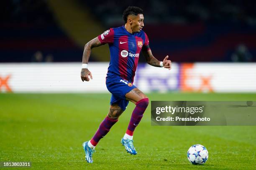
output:
[[[142,30],[144,27],[143,19],[143,10],[141,8],[127,7],[123,12],[125,25],[118,28],[110,28],[84,46],[81,79],[82,81],[89,81],[92,79],[92,73],[88,70],[87,65],[91,50],[94,47],[108,43],[110,64],[106,85],[112,93],[108,115],[100,123],[100,127],[92,139],[82,145],[88,163],[92,163],[92,154],[95,152],[95,146],[118,121],[118,117],[125,111],[129,101],[133,102],[136,107],[132,112],[131,120],[126,133],[121,139],[121,143],[128,153],[137,154],[133,146],[133,132],[148,106],[148,97],[133,85],[133,77],[138,65],[140,52],[142,51],[148,64],[171,69],[172,63],[167,60],[168,55],[163,61],[157,60],[152,55],[148,36]]]

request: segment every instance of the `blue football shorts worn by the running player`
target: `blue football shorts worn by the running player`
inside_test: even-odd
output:
[[[125,99],[125,95],[136,88],[136,86],[118,76],[107,78],[106,85],[108,91],[112,93],[110,105],[118,104],[118,106],[124,111],[129,103],[129,101]]]

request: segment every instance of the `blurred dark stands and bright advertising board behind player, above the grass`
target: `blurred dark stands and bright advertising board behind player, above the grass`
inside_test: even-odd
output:
[[[144,10],[154,56],[174,62],[171,72],[160,71],[141,55],[134,82],[141,90],[256,92],[253,0],[3,1],[0,91],[107,92],[108,45],[92,50],[89,83],[79,77],[83,48],[123,25],[122,12],[131,4]]]

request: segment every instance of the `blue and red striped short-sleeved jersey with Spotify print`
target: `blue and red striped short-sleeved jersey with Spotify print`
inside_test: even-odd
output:
[[[141,49],[149,44],[146,33],[141,30],[132,34],[122,26],[106,30],[98,39],[102,44],[108,43],[110,49],[107,78],[117,75],[133,82]]]

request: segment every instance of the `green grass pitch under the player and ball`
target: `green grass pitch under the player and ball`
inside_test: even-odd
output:
[[[256,94],[147,94],[150,100],[256,100]],[[256,126],[151,126],[150,105],[134,133],[137,155],[120,144],[133,103],[96,147],[93,164],[82,143],[107,115],[110,94],[0,94],[0,162],[31,162],[20,169],[255,169]],[[204,145],[209,159],[192,165],[187,150]],[[17,169],[17,168],[5,168]]]

